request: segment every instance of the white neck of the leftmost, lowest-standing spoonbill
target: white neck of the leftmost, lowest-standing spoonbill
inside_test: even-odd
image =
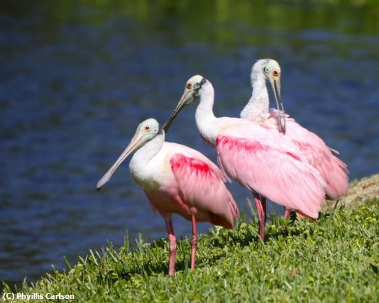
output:
[[[129,164],[132,176],[143,174],[149,161],[161,150],[163,143],[165,143],[165,132],[156,135],[152,140],[137,149]]]

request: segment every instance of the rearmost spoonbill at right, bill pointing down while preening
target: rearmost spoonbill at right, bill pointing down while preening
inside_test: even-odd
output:
[[[254,63],[250,75],[252,97],[240,113],[240,118],[272,125],[277,127],[279,132],[283,132],[285,125],[284,132],[287,138],[299,147],[308,163],[320,171],[326,183],[327,198],[336,199],[345,195],[349,187],[347,177],[349,171],[347,165],[331,153],[338,151],[327,147],[319,136],[296,123],[294,118],[289,118],[287,115],[282,118],[284,110],[280,93],[280,73],[280,65],[273,59],[260,59]],[[271,83],[278,110],[269,109],[266,81]],[[290,211],[290,209],[285,210],[285,218],[288,218]]]

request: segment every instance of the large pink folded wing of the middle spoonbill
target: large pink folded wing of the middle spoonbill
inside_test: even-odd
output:
[[[275,129],[262,125],[245,132],[237,129],[237,133],[234,136],[229,129],[216,141],[218,162],[225,173],[269,200],[318,218],[325,183],[300,151]],[[243,133],[245,138],[241,138]]]

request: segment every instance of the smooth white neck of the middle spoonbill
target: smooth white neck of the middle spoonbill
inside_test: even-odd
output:
[[[218,130],[214,127],[216,117],[213,114],[214,89],[212,84],[207,81],[198,91],[200,103],[196,109],[196,125],[201,136],[209,143],[216,144]]]

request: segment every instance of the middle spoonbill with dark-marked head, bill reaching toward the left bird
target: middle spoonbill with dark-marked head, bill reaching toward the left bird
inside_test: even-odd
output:
[[[197,97],[196,125],[204,140],[216,148],[218,164],[225,174],[253,191],[259,219],[259,234],[265,235],[265,199],[318,218],[324,201],[324,181],[300,149],[273,127],[240,118],[216,118],[214,88],[203,76],[192,76],[174,112],[165,123],[170,127],[183,107]]]

